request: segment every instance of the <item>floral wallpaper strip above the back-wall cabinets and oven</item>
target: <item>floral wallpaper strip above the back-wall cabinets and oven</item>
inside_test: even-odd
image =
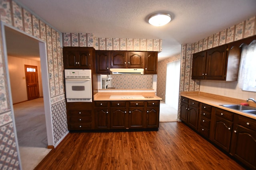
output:
[[[94,47],[96,50],[162,51],[162,39],[96,38],[92,33],[62,33],[65,47]]]

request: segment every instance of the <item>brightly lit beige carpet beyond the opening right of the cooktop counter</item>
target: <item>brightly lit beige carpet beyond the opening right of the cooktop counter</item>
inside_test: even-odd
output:
[[[159,122],[177,121],[178,111],[168,106],[162,100],[160,101]]]

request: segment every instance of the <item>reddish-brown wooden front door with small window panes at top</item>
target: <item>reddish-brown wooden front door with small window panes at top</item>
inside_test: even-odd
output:
[[[25,65],[25,75],[28,100],[39,98],[37,66]]]

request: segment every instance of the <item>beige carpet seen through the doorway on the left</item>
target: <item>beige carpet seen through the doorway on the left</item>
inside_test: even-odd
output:
[[[15,125],[23,170],[33,170],[50,152],[47,149],[44,99],[14,104]]]

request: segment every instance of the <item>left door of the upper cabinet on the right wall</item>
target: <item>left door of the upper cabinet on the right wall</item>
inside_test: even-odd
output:
[[[205,78],[206,52],[202,51],[193,54],[192,59],[192,79]]]

